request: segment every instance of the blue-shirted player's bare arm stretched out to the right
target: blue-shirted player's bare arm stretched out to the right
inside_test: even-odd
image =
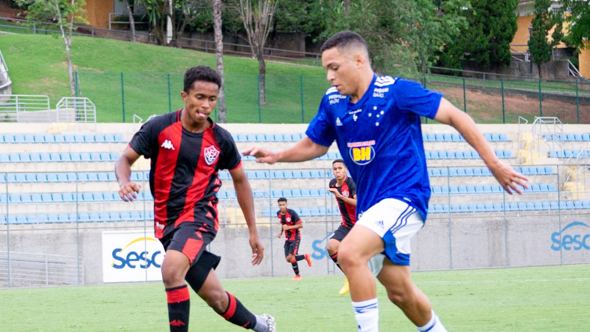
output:
[[[440,123],[448,124],[463,135],[467,143],[473,146],[483,159],[491,173],[496,177],[502,188],[512,195],[513,192],[522,194],[519,186],[529,188],[526,182],[529,180],[526,176],[516,172],[510,165],[500,160],[496,153],[491,149],[485,137],[478,129],[475,121],[467,113],[457,109],[450,101],[445,98],[441,99],[438,106],[437,115],[434,120]]]

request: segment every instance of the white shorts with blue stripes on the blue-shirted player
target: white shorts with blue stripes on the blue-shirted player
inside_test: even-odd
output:
[[[417,209],[394,198],[371,206],[356,223],[381,236],[385,244],[383,254],[397,265],[409,265],[410,239],[424,226]]]

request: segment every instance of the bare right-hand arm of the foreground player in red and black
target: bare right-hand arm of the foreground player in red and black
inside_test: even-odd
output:
[[[256,218],[254,213],[254,196],[252,194],[252,188],[248,177],[244,172],[244,169],[240,166],[237,169],[230,170],[231,178],[234,182],[235,195],[238,199],[238,204],[246,224],[248,225],[248,231],[250,231],[250,247],[252,248],[252,265],[258,265],[264,258],[264,246],[260,242],[258,236],[258,230],[256,229]]]

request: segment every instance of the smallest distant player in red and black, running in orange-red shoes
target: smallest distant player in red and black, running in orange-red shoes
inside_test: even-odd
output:
[[[293,272],[295,272],[295,277],[291,280],[301,280],[299,264],[297,264],[297,262],[305,259],[307,265],[309,265],[309,267],[312,266],[312,258],[310,257],[309,252],[306,252],[303,255],[297,255],[299,244],[301,242],[301,232],[299,229],[303,228],[303,221],[301,221],[297,212],[287,208],[286,198],[281,197],[277,202],[277,218],[278,222],[281,223],[281,231],[278,232],[277,237],[280,238],[283,236],[283,231],[285,232],[285,244],[283,246],[285,249],[285,259],[287,262],[291,263]]]

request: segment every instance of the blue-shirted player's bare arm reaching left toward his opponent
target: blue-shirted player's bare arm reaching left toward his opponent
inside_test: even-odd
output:
[[[259,147],[249,147],[248,149],[242,151],[242,155],[256,157],[257,163],[293,163],[304,162],[306,160],[312,160],[319,156],[323,156],[326,154],[326,152],[328,152],[329,148],[329,146],[316,144],[311,139],[309,139],[309,137],[305,137],[287,150],[271,152],[260,149]]]

